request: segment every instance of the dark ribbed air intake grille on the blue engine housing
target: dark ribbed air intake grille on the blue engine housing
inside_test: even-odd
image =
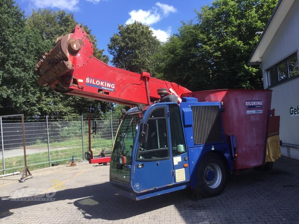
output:
[[[193,113],[194,145],[220,142],[219,106],[191,106]]]

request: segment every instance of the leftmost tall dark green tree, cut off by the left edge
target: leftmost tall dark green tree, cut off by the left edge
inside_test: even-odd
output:
[[[24,13],[12,0],[0,2],[1,115],[38,113],[40,92],[34,67],[45,50],[35,29],[28,29]]]

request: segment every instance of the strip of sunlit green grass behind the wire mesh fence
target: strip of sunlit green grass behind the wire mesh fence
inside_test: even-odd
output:
[[[83,138],[84,152],[88,152],[88,137]],[[34,145],[30,145],[30,148],[45,149],[48,148],[48,144],[44,142],[37,142]],[[59,149],[61,148],[61,149]],[[111,151],[112,140],[111,139],[91,139],[91,149],[94,155],[100,154],[102,150]],[[28,150],[29,151],[29,150]],[[74,155],[75,161],[83,159],[82,152],[82,138],[63,139],[59,142],[50,142],[50,159],[52,163],[70,163],[71,158]],[[61,161],[57,161],[61,160]],[[6,173],[12,173],[16,171],[23,171],[24,168],[24,156],[15,156],[5,158],[5,169]],[[55,162],[56,161],[56,162]],[[37,164],[40,163],[40,164]],[[35,170],[40,168],[49,167],[49,156],[48,151],[39,152],[34,154],[27,154],[27,165],[29,170]],[[16,168],[19,167],[19,168]],[[11,169],[10,169],[11,168]],[[3,160],[0,160],[0,169],[3,169]],[[8,170],[7,170],[8,169]],[[0,175],[4,174],[0,171]]]

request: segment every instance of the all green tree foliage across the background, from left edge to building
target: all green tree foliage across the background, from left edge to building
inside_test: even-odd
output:
[[[247,61],[269,20],[277,0],[215,0],[193,21],[161,44],[149,26],[139,22],[118,25],[108,51],[112,64],[132,72],[147,71],[190,90],[261,88],[258,67]],[[123,106],[69,96],[40,87],[34,73],[39,56],[51,50],[57,36],[78,22],[64,10],[33,10],[25,18],[13,0],[0,1],[0,114],[72,116],[93,113],[110,116]],[[89,27],[94,56],[108,62]],[[107,111],[110,111],[107,113]]]

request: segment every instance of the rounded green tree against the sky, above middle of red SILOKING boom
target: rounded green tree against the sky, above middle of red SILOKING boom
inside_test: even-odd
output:
[[[151,72],[153,55],[161,45],[152,36],[149,26],[140,22],[118,25],[118,33],[114,33],[108,44],[108,52],[113,56],[111,62],[115,67],[140,73]]]

